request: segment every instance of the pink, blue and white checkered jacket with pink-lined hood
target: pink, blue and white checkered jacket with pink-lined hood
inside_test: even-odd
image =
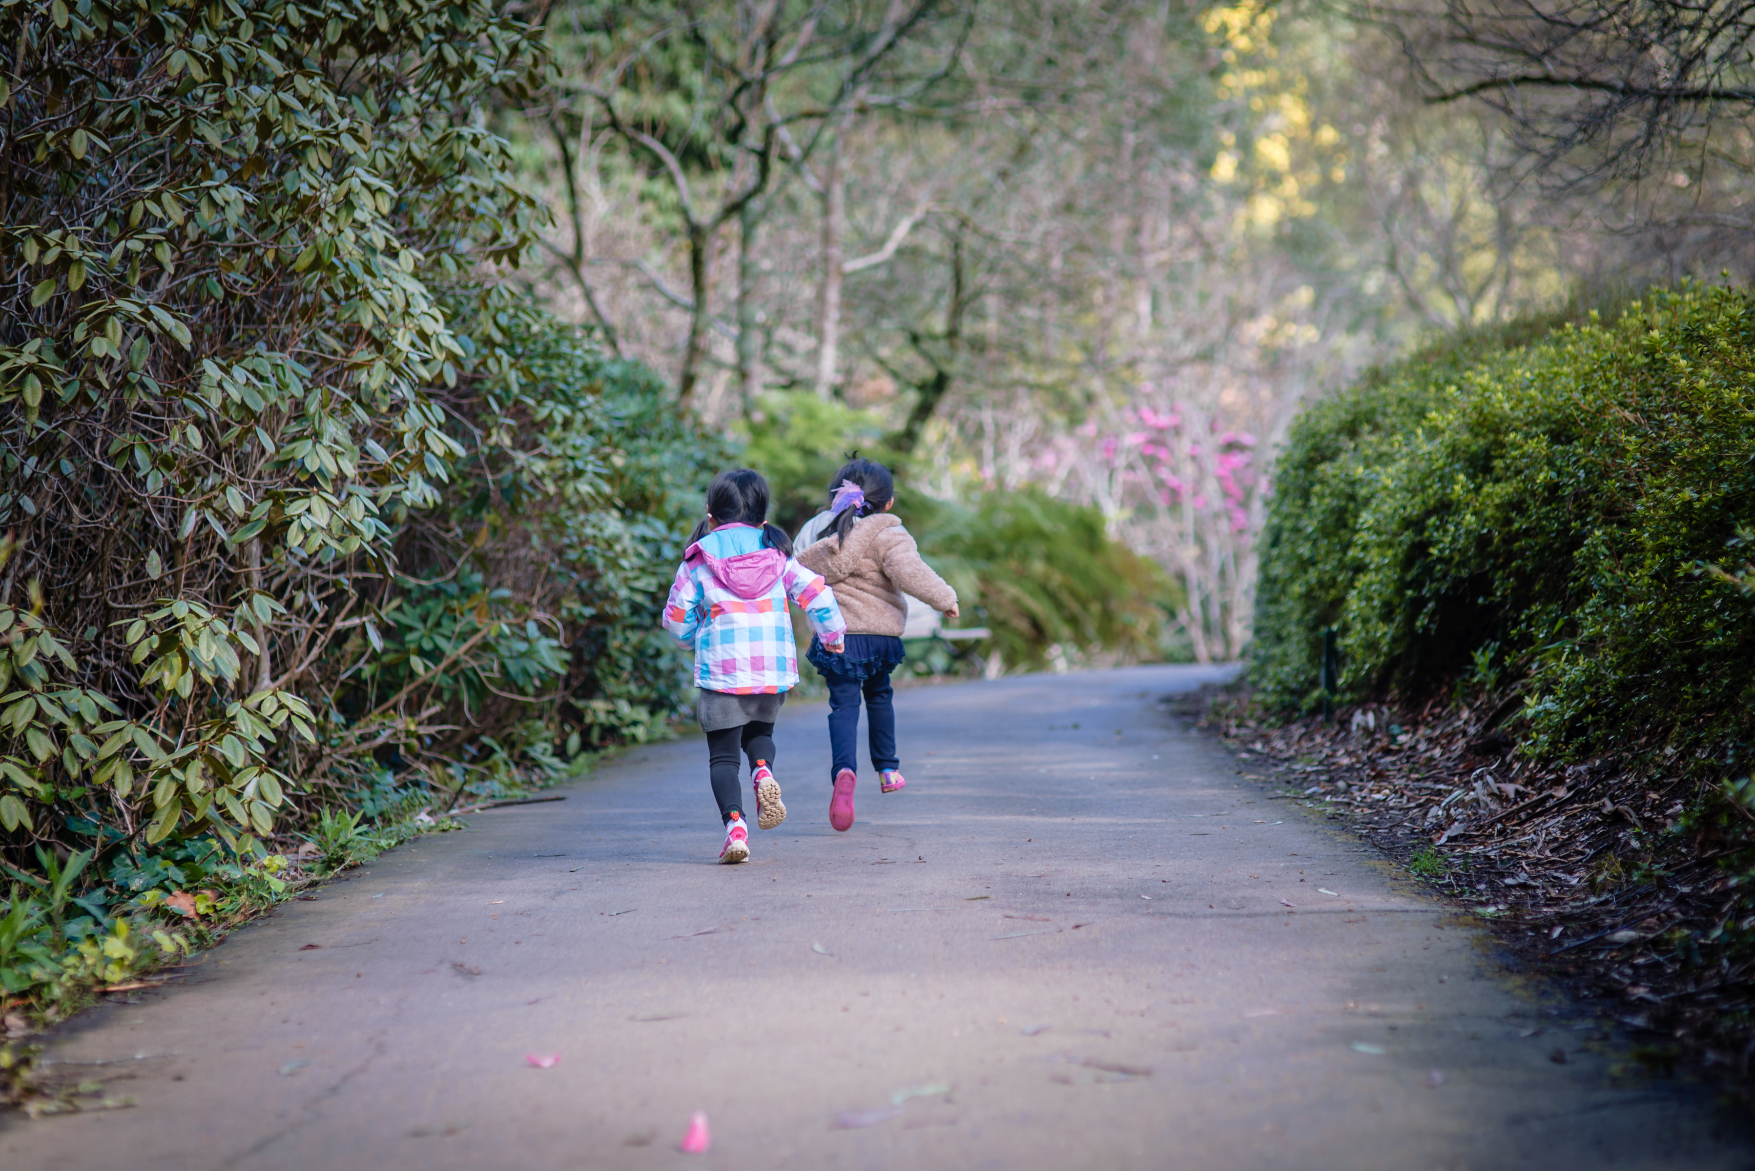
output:
[[[695,649],[697,687],[741,696],[788,691],[799,682],[788,598],[823,642],[846,633],[828,582],[767,549],[762,529],[725,524],[683,556],[663,628]]]

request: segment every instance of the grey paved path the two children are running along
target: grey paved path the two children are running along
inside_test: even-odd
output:
[[[799,705],[792,817],[741,868],[713,864],[704,747],[632,752],[79,1018],[54,1059],[121,1059],[95,1068],[139,1108],[12,1118],[0,1166],[1751,1166],[1701,1092],[1616,1076],[1588,1020],[1165,713],[1211,677],[907,691],[909,789],[863,782],[846,834]],[[676,1150],[695,1110],[704,1157]]]

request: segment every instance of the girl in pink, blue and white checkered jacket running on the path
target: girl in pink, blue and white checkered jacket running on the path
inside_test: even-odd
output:
[[[786,820],[774,780],[774,720],[799,682],[786,600],[804,610],[830,654],[841,652],[848,629],[828,582],[793,559],[786,533],[767,522],[767,507],[769,487],[758,472],[713,477],[707,515],[690,538],[663,608],[663,628],[695,649],[697,715],[725,822],[721,862],[749,857],[739,752],[749,757],[756,824],[772,829]]]

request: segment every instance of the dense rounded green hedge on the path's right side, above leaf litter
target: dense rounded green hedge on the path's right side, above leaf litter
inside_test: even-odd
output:
[[[1755,303],[1683,286],[1522,323],[1314,405],[1279,461],[1253,678],[1522,680],[1530,745],[1718,752],[1750,733],[1755,610],[1706,566],[1755,515]]]

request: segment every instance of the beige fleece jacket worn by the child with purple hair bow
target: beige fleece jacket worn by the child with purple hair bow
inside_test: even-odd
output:
[[[846,545],[828,533],[800,552],[799,563],[828,580],[849,635],[900,635],[907,617],[902,594],[941,612],[956,605],[956,591],[920,559],[902,519],[888,512],[855,521]]]

